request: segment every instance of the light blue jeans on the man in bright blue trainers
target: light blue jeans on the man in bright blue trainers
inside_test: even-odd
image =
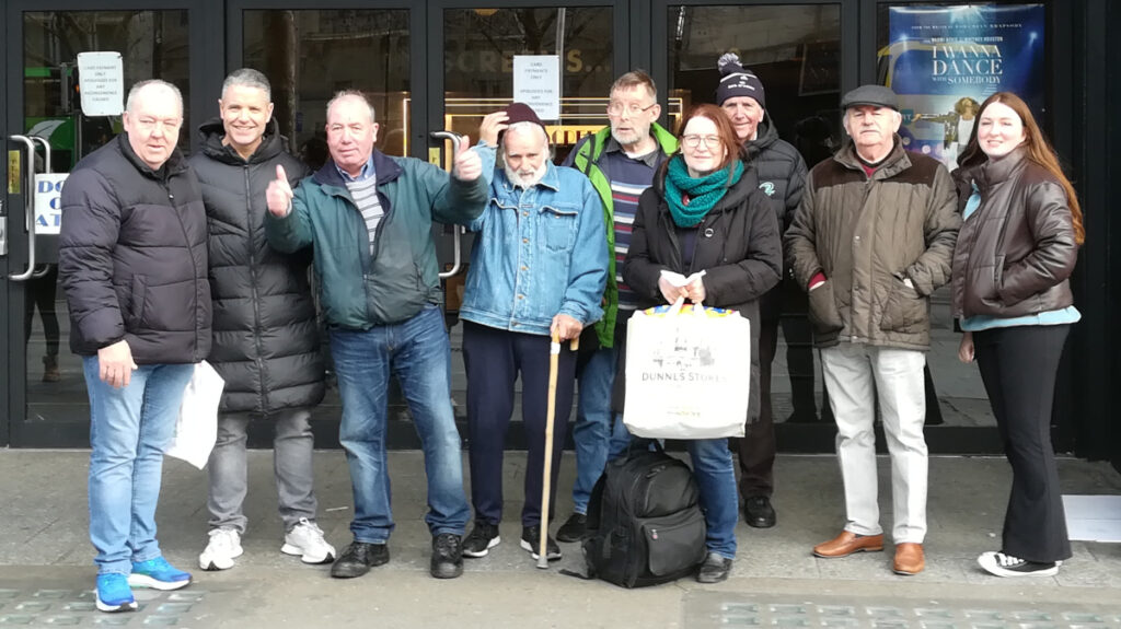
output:
[[[160,556],[156,504],[164,449],[175,434],[194,365],[142,365],[129,385],[98,376],[96,356],[82,359],[90,394],[90,541],[100,574],[132,572]]]

